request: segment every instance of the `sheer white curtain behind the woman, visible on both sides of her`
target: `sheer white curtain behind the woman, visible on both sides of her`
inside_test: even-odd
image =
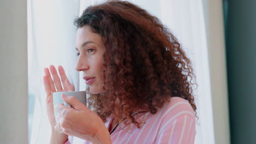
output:
[[[45,111],[43,69],[50,64],[63,65],[68,78],[75,85],[75,91],[85,89],[81,80],[82,73],[74,70],[75,16],[99,1],[40,1],[28,0],[28,38],[30,89],[36,95],[31,143],[48,143],[50,126]],[[196,94],[197,116],[195,143],[214,143],[210,72],[206,41],[205,20],[202,1],[181,0],[140,0],[130,1],[138,4],[169,27],[193,62],[196,80],[199,84]],[[79,10],[80,8],[80,10]],[[71,141],[80,140],[75,138]]]

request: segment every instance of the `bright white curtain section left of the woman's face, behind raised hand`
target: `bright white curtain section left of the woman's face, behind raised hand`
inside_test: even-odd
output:
[[[28,76],[29,91],[36,104],[30,143],[49,143],[50,124],[46,115],[44,68],[62,65],[75,91],[79,91],[79,73],[75,71],[75,29],[80,1],[28,0]]]

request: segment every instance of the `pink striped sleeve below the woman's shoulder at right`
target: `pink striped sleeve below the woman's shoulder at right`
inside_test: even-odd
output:
[[[163,123],[155,143],[190,144],[195,140],[195,117],[184,114]]]

